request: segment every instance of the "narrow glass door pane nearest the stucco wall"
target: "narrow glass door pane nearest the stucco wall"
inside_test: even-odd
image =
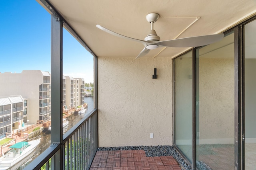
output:
[[[192,163],[192,52],[174,59],[174,144]]]

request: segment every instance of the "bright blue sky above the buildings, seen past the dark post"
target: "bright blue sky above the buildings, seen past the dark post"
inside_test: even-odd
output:
[[[0,72],[50,72],[51,16],[36,0],[0,0]],[[63,29],[63,74],[93,82],[93,57]]]

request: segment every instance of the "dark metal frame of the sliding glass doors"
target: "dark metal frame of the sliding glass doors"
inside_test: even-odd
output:
[[[234,31],[234,156],[235,156],[235,170],[245,170],[245,84],[244,84],[244,25],[251,21],[256,20],[256,16],[232,27],[228,31],[225,31],[224,34],[227,34],[231,31]],[[192,106],[192,164],[190,166],[193,170],[196,169],[196,51],[201,47],[196,47],[192,49],[192,94],[193,94],[193,106]],[[191,51],[191,50],[190,50]],[[184,54],[184,53],[183,53]],[[181,54],[181,55],[183,55]],[[181,56],[180,55],[180,56]],[[179,57],[179,56],[178,56]],[[175,57],[177,58],[177,57]],[[174,59],[172,62],[172,73],[174,73]],[[173,74],[174,75],[174,74]],[[174,80],[174,76],[173,76]],[[173,82],[174,83],[174,82]],[[174,85],[174,84],[173,84]],[[173,86],[174,87],[174,86]],[[174,88],[172,89],[174,92]],[[173,93],[174,94],[174,93]],[[173,95],[174,99],[174,95]],[[174,102],[173,102],[174,104]],[[173,105],[173,128],[174,128],[174,105]],[[173,135],[173,141],[174,135]],[[180,150],[173,144],[175,149],[184,157]],[[185,157],[184,159],[189,162]],[[188,163],[189,164],[189,163]]]

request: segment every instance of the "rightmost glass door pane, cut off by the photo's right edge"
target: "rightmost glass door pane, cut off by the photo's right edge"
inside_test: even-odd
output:
[[[256,170],[256,21],[245,25],[245,169]]]

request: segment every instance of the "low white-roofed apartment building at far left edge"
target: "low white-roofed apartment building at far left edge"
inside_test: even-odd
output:
[[[27,100],[22,96],[0,97],[0,139],[6,137],[7,133],[12,133],[13,129],[22,128],[24,101],[27,107]]]

